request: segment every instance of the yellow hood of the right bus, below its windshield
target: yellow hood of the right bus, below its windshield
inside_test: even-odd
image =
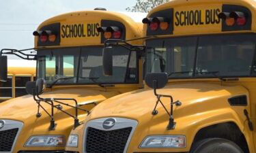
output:
[[[209,83],[183,83],[166,86],[157,90],[158,94],[171,95],[173,101],[180,101],[182,105],[174,106],[174,118],[189,116],[209,109],[230,107],[228,99],[238,95],[248,95],[248,90],[242,86],[221,86]],[[139,122],[168,120],[165,109],[158,104],[158,115],[152,116],[156,105],[156,96],[151,89],[128,92],[100,103],[90,114],[89,120],[95,118],[121,117],[132,118]],[[170,112],[170,99],[161,98]],[[160,120],[162,118],[162,121]],[[157,123],[156,123],[157,124]]]

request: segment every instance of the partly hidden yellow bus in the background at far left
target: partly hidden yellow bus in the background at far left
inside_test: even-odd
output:
[[[26,82],[35,80],[35,62],[12,59],[8,61],[8,80],[0,82],[0,103],[27,95]]]

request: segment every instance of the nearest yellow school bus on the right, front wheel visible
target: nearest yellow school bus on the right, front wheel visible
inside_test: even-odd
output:
[[[147,87],[94,107],[66,150],[255,153],[255,18],[253,0],[156,7],[143,19]]]

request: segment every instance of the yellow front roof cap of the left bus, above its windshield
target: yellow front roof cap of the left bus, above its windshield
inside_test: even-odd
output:
[[[42,22],[37,29],[37,31],[52,31],[51,29],[57,31],[57,43],[40,43],[38,37],[35,37],[35,47],[103,45],[106,38],[97,31],[98,27],[119,27],[122,31],[120,39],[136,39],[143,37],[141,20],[145,16],[146,14],[143,13],[102,10],[61,14]],[[133,43],[142,44],[142,41]]]

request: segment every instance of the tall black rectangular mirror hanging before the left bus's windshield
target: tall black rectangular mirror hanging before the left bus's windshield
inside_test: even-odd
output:
[[[104,75],[112,76],[113,75],[113,48],[112,47],[103,48],[102,61],[103,61]]]

